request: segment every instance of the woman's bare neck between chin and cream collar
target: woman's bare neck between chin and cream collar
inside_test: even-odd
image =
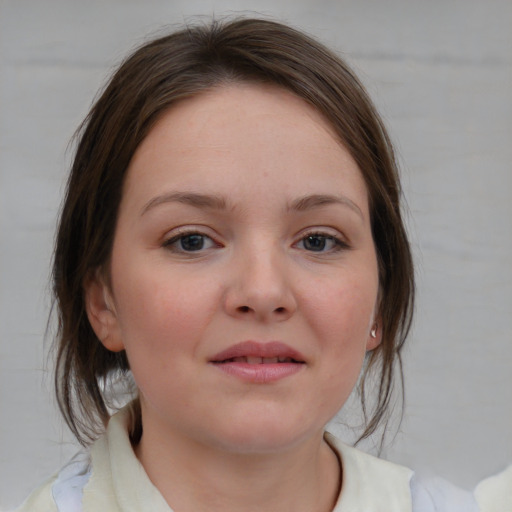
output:
[[[322,432],[278,453],[240,454],[145,430],[135,451],[180,512],[330,512],[339,494],[339,461]]]

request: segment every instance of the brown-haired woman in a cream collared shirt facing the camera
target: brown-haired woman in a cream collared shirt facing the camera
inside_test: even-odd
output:
[[[358,382],[361,437],[385,428],[414,295],[400,194],[366,92],[307,36],[236,20],[131,55],[82,126],[54,260],[57,396],[93,444],[22,510],[433,506],[324,432]]]

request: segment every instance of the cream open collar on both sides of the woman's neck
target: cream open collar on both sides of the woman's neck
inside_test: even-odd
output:
[[[127,408],[115,414],[106,435],[91,449],[93,471],[84,489],[84,512],[172,512],[135,456],[128,436],[129,415]],[[325,440],[343,468],[333,512],[411,512],[411,470],[352,448],[328,432]]]

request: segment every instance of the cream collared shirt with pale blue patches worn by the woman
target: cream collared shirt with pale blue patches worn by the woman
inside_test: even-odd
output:
[[[17,512],[172,512],[135,456],[127,424],[127,410],[115,414],[91,450],[77,454]],[[421,481],[410,469],[352,448],[332,434],[326,433],[325,440],[343,468],[333,512],[478,512],[470,493],[442,481]]]

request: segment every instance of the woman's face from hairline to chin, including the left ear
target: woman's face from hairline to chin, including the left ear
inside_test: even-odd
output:
[[[127,172],[109,284],[87,288],[144,435],[239,452],[321,436],[379,340],[369,217],[356,163],[291,93],[236,85],[165,113]]]

